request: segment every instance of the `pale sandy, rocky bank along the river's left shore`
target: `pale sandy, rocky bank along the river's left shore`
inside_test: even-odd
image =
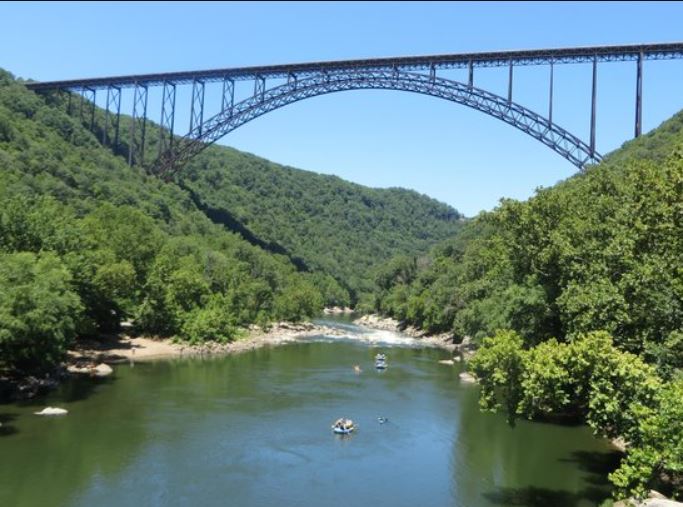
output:
[[[252,329],[246,336],[230,343],[210,342],[201,345],[176,343],[169,338],[154,339],[122,334],[104,340],[79,342],[76,348],[69,351],[69,363],[72,365],[101,362],[119,363],[172,357],[232,354],[254,350],[263,346],[290,343],[300,337],[319,334],[340,335],[343,332],[339,329],[311,323],[291,324],[281,322],[274,325],[268,331]]]

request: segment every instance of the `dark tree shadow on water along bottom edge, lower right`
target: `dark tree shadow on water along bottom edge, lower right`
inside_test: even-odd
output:
[[[570,491],[536,488],[500,488],[497,491],[484,493],[489,501],[498,505],[523,507],[576,507],[581,502],[599,505],[609,496],[604,489],[586,488],[578,493]]]

